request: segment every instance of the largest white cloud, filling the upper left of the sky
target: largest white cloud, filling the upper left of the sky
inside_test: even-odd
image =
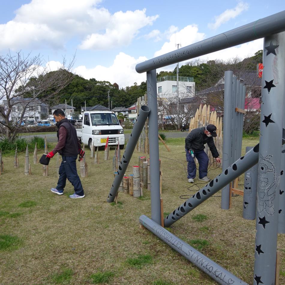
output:
[[[32,0],[16,16],[0,25],[0,49],[63,48],[73,37],[83,49],[112,48],[131,42],[156,16],[146,10],[116,12],[97,7],[101,0]],[[103,33],[102,33],[103,31]]]

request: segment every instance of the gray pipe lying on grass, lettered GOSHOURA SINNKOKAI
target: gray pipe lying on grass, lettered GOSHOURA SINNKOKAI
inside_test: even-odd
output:
[[[182,241],[176,235],[173,235],[167,229],[163,228],[158,223],[155,223],[149,217],[140,216],[140,223],[149,231],[155,234],[158,238],[179,252],[182,256],[188,259],[191,263],[200,268],[203,272],[216,280],[219,284],[242,284],[246,285],[244,281],[227,271],[225,268],[218,265],[216,262],[200,253],[195,248],[191,247],[186,242]]]

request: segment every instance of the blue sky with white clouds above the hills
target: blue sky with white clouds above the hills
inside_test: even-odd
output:
[[[184,47],[285,10],[284,0],[0,2],[0,55],[9,49],[40,53],[57,66],[62,56],[76,53],[75,73],[120,87],[145,81],[136,64],[170,52],[176,44]],[[202,59],[244,58],[259,49],[262,39]]]

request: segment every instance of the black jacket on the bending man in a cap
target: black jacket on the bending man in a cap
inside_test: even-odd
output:
[[[204,144],[208,143],[210,151],[214,158],[219,157],[219,153],[214,144],[213,137],[207,137],[204,134],[205,127],[193,129],[185,139],[185,149],[193,149],[193,151],[201,151],[205,149]]]

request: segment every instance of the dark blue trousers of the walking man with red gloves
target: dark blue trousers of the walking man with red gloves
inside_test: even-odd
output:
[[[76,156],[62,155],[62,162],[59,167],[59,179],[57,182],[56,189],[59,191],[63,191],[66,184],[66,179],[68,179],[68,181],[74,187],[74,192],[79,196],[83,196],[84,195],[83,187],[76,169],[76,159],[77,155]]]

